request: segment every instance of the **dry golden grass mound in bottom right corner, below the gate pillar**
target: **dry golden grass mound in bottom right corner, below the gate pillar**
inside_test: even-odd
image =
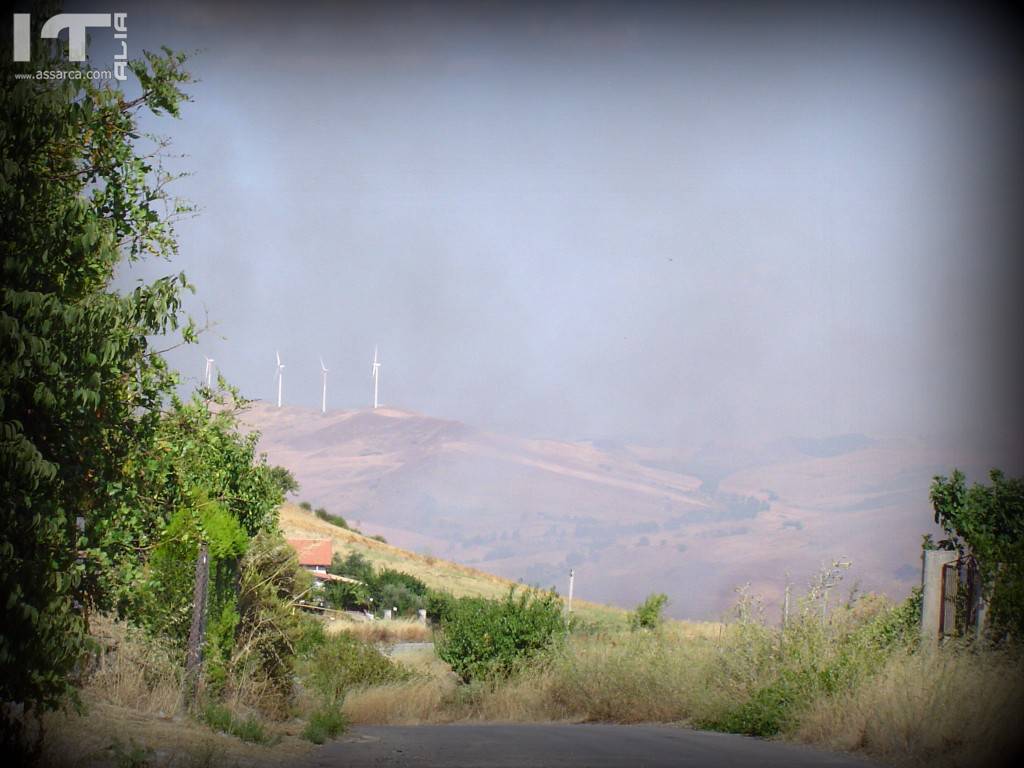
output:
[[[1001,765],[1024,753],[1024,670],[1007,653],[900,653],[853,695],[819,700],[796,737],[895,765]]]

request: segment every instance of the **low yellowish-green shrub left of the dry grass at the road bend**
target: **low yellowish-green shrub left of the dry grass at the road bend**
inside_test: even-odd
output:
[[[404,680],[409,673],[374,646],[344,633],[331,635],[305,664],[303,680],[327,707],[338,707],[357,685]]]

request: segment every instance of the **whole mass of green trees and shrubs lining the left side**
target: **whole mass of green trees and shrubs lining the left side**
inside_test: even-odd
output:
[[[47,15],[33,13],[34,39]],[[298,483],[240,432],[246,403],[222,379],[178,396],[160,347],[199,338],[181,311],[185,276],[113,282],[125,264],[172,257],[174,220],[189,212],[167,191],[167,141],[139,128],[143,112],[179,115],[185,57],[145,52],[129,98],[114,81],[15,77],[76,69],[67,43],[33,46],[28,63],[2,45],[0,745],[38,758],[41,716],[83,685],[220,725],[246,707],[289,715],[316,635],[293,605],[308,577],[276,529]],[[205,665],[186,686],[200,551]],[[109,616],[130,630],[97,651],[89,635]],[[225,729],[261,740],[261,728],[231,715]]]

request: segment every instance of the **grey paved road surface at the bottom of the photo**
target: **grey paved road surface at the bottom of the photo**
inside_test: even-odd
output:
[[[658,725],[358,726],[316,751],[324,768],[873,768],[846,755]]]

